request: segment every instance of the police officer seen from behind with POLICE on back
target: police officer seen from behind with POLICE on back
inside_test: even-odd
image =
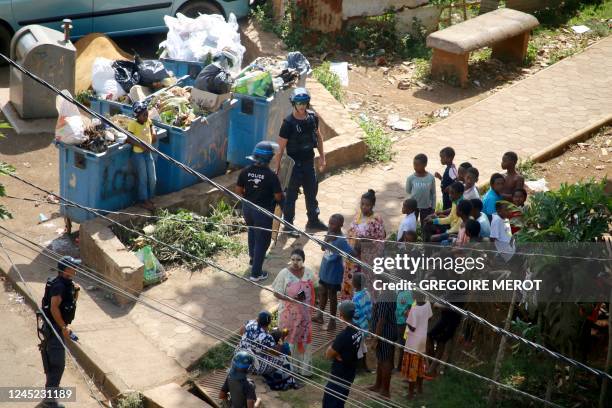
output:
[[[253,164],[240,172],[236,182],[236,193],[250,202],[274,212],[276,203],[281,203],[283,191],[278,176],[270,170],[270,161],[274,157],[276,143],[263,141],[257,143],[253,154],[247,156]],[[257,210],[251,204],[242,206],[242,214],[249,228],[249,258],[251,258],[251,277],[253,282],[268,279],[268,273],[262,271],[266,251],[272,241],[272,218]]]

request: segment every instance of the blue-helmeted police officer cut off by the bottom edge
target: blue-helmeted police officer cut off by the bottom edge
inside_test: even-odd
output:
[[[255,384],[247,378],[249,367],[253,365],[253,356],[246,351],[239,351],[234,356],[232,368],[225,378],[219,398],[230,400],[232,408],[254,408],[257,401]],[[229,394],[229,395],[228,395]]]

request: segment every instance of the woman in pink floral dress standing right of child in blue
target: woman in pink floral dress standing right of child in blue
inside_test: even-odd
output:
[[[382,256],[384,251],[384,242],[382,242],[382,240],[387,236],[382,217],[374,214],[375,205],[376,193],[374,190],[370,189],[361,196],[359,211],[348,231],[349,244],[355,248],[358,258],[370,266],[374,263],[374,258]],[[353,274],[356,272],[363,273],[366,281],[364,287],[367,288],[372,294],[372,297],[375,298],[376,294],[373,290],[374,273],[371,270],[360,268],[359,265],[350,260],[346,260],[344,280],[342,282],[342,291],[340,294],[341,300],[352,300],[352,281]]]

